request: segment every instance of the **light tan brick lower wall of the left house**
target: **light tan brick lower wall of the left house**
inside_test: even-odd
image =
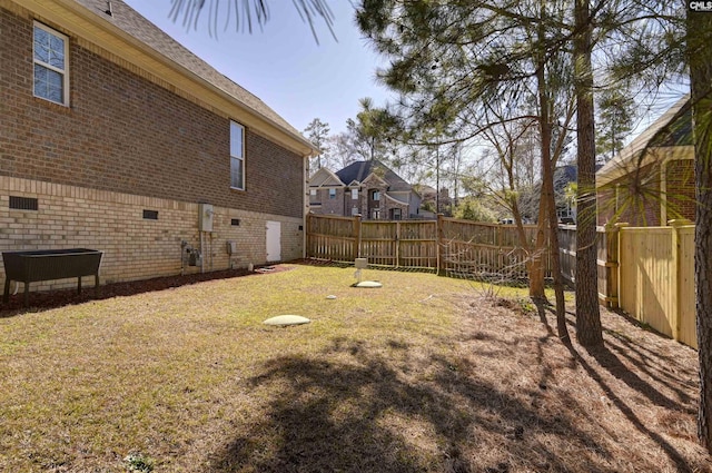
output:
[[[38,210],[10,209],[10,196],[37,198]],[[158,219],[145,219],[145,209],[157,210]],[[301,218],[214,209],[214,231],[204,233],[206,270],[266,263],[267,220],[281,224],[281,259],[303,256]],[[238,226],[233,225],[234,219],[239,220]],[[99,249],[105,252],[102,283],[111,283],[180,274],[182,240],[200,247],[198,204],[0,176],[0,252]],[[234,256],[227,253],[228,240],[237,243]],[[185,273],[199,270],[184,266]],[[75,280],[36,283],[32,289],[75,285]]]

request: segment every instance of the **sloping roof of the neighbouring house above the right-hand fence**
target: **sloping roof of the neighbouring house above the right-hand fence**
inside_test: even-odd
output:
[[[636,159],[641,159],[642,154],[652,148],[691,146],[692,115],[688,106],[689,101],[689,95],[678,100],[613,159],[606,162],[596,173],[596,186],[606,185],[629,174],[626,169],[631,168],[631,164],[634,164]],[[650,161],[645,161],[644,157],[641,162],[635,162],[635,165],[640,166],[647,164]]]

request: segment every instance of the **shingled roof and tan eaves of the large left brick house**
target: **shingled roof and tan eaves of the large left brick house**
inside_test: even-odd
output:
[[[227,99],[233,106],[255,118],[245,125],[266,132],[270,138],[276,138],[283,146],[303,156],[318,152],[316,146],[258,97],[218,72],[120,0],[111,1],[111,16],[107,13],[108,3],[105,0],[13,1],[65,26],[68,30],[181,90],[195,89],[197,85],[197,88],[201,89],[199,92],[186,91],[198,96],[197,98],[210,106],[227,108],[230,115],[230,107],[221,102]],[[187,77],[194,83],[177,79],[177,75]],[[206,91],[206,88],[209,90]],[[210,92],[218,97],[211,96]]]

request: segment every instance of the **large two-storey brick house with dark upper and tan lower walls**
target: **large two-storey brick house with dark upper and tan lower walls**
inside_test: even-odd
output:
[[[107,283],[303,256],[314,145],[126,3],[0,0],[0,250]]]

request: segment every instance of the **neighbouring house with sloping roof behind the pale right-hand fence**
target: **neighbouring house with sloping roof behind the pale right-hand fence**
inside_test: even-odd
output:
[[[596,173],[599,225],[694,221],[694,146],[683,97]]]

